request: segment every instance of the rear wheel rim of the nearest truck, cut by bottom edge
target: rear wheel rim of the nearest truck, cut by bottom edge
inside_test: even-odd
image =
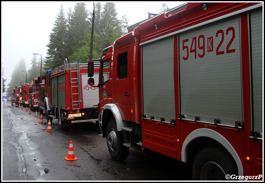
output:
[[[200,172],[200,180],[224,181],[226,180],[224,170],[215,162],[207,162]]]

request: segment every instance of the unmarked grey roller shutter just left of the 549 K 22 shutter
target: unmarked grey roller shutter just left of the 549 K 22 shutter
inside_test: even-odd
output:
[[[143,113],[175,119],[173,37],[143,46]]]

